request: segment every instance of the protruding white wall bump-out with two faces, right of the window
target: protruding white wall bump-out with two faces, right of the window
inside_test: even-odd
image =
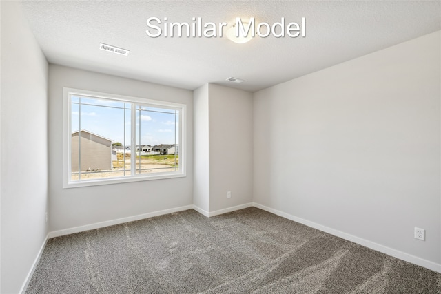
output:
[[[193,201],[205,216],[251,205],[252,123],[252,93],[211,83],[194,91]]]

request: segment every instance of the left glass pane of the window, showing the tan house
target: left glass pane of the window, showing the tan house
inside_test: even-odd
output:
[[[71,101],[71,180],[130,176],[130,103],[84,96]]]

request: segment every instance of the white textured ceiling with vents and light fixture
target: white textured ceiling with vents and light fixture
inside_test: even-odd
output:
[[[194,90],[218,83],[257,91],[441,30],[440,1],[23,1],[50,63]],[[301,23],[305,38],[152,38],[149,17],[169,22]],[[130,50],[120,56],[99,43]],[[225,81],[234,76],[245,80]]]

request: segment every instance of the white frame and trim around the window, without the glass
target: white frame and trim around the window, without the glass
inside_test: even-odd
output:
[[[88,96],[92,98],[107,98],[116,101],[126,103],[141,103],[148,104],[157,107],[171,107],[179,109],[179,165],[177,171],[152,173],[152,174],[134,174],[132,176],[115,177],[115,178],[98,178],[92,180],[76,180],[72,181],[71,178],[71,139],[72,139],[72,126],[71,126],[71,95],[76,96]],[[133,108],[133,107],[132,107]],[[132,125],[135,125],[136,117],[134,116],[134,110],[132,110]],[[63,87],[63,189],[74,187],[88,187],[97,185],[110,185],[119,184],[124,182],[139,182],[144,180],[161,180],[167,178],[182,178],[187,176],[187,105],[181,103],[174,103],[168,101],[152,100],[150,98],[139,98],[132,96],[123,96],[116,94],[108,94],[103,92],[94,92],[89,90],[79,90],[69,87]],[[130,142],[131,149],[136,149],[136,136],[134,134],[134,128],[132,128],[132,142]],[[134,151],[131,151],[134,156]],[[133,157],[132,157],[133,158]]]

